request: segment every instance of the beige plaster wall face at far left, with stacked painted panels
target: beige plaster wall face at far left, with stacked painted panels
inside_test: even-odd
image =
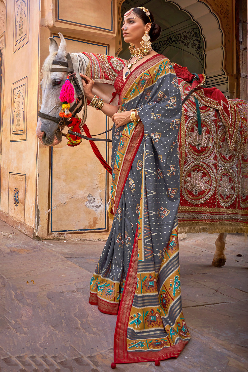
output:
[[[3,5],[1,2],[2,14]],[[3,41],[0,41],[0,46],[4,49],[1,218],[10,223],[16,220],[21,222],[23,228],[29,227],[30,234],[35,230],[36,223],[38,141],[34,128],[37,121],[39,84],[38,9],[39,0],[7,1],[7,30],[3,38],[0,36]]]

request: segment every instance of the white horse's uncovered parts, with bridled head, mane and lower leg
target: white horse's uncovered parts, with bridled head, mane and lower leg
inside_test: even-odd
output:
[[[54,38],[50,39],[49,55],[46,58],[42,67],[42,105],[40,111],[40,117],[38,119],[36,134],[42,144],[47,146],[55,146],[62,141],[61,131],[58,127],[59,111],[61,109],[61,102],[59,100],[59,94],[61,86],[65,83],[65,79],[68,74],[68,69],[62,67],[61,64],[52,64],[55,61],[67,61],[66,42],[61,33],[59,33],[61,42],[58,47],[57,42]],[[72,53],[70,54],[73,62],[73,70],[78,77],[78,84],[83,91],[83,84],[79,73],[86,73],[86,66],[88,64],[88,58],[83,53]],[[64,65],[65,66],[65,65]],[[51,71],[51,69],[56,71]],[[122,67],[120,67],[122,69]],[[106,81],[105,81],[106,83]],[[100,95],[101,98],[108,102],[109,96],[115,91],[113,87],[113,81],[108,81],[108,84],[101,83],[101,81],[95,81],[93,86],[93,94]],[[76,90],[77,92],[77,90]],[[99,92],[101,92],[99,94]],[[75,94],[75,101],[71,104],[74,105],[77,99]],[[75,107],[78,108],[80,103],[75,103]],[[113,105],[118,104],[118,96],[112,102]],[[43,114],[43,117],[41,117]],[[87,106],[84,105],[84,116],[87,114]],[[52,119],[54,118],[54,119]],[[55,120],[57,119],[57,121]],[[215,241],[216,251],[213,257],[212,265],[221,267],[225,265],[225,243],[226,243],[226,232],[221,232],[219,237]]]

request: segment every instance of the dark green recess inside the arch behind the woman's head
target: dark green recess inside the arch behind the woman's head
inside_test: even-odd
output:
[[[131,1],[124,1],[122,4],[120,11],[122,18],[125,12],[130,9],[130,3]],[[174,4],[166,3],[163,0],[149,0],[145,3],[144,0],[135,1],[135,6],[142,5],[151,9],[154,19],[162,29],[160,38],[152,45],[153,49],[164,54],[171,62],[187,66],[189,71],[204,73],[206,65],[205,42],[199,26],[191,17]],[[120,51],[119,57],[129,59],[129,45],[125,44],[122,35],[121,38],[122,51]]]

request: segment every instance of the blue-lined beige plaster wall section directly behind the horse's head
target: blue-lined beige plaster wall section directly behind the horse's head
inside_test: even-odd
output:
[[[58,32],[63,33],[68,52],[115,55],[116,10],[112,1],[100,1],[98,5],[96,1],[80,1],[76,16],[75,6],[70,10],[66,3],[63,0],[54,3],[42,1],[41,65],[48,55],[48,38],[53,36],[59,44]],[[94,9],[91,16],[88,14],[90,9]],[[40,92],[40,102],[41,99]],[[86,123],[91,134],[112,125],[102,112],[91,107],[88,108]],[[93,154],[88,141],[74,148],[66,144],[65,138],[56,147],[39,143],[38,236],[106,239],[109,231],[109,175]],[[110,163],[109,144],[97,142],[97,146]]]

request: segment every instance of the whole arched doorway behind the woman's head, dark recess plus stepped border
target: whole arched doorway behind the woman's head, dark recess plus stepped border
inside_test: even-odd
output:
[[[225,70],[225,33],[218,16],[204,1],[192,0],[120,0],[117,54],[127,58],[124,40],[119,32],[126,10],[145,6],[161,25],[160,40],[154,43],[156,51],[172,62],[187,66],[191,72],[206,74],[206,86],[216,86],[232,98],[235,81]],[[202,69],[202,70],[201,70]]]

